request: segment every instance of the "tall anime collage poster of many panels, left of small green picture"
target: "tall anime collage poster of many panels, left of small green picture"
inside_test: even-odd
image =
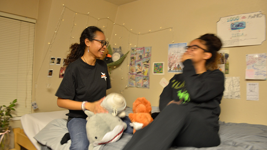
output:
[[[129,65],[128,86],[149,88],[152,47],[132,47]]]

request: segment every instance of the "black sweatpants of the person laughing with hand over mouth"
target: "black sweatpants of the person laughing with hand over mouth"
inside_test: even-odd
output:
[[[213,147],[220,144],[218,131],[206,121],[210,111],[193,104],[170,104],[145,128],[134,133],[123,150],[166,150],[177,147]],[[197,111],[196,111],[197,110]]]

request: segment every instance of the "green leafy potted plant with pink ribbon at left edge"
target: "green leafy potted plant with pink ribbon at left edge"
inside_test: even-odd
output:
[[[9,106],[1,106],[0,107],[0,149],[1,150],[7,150],[9,148],[9,135],[7,134],[10,132],[9,124],[11,118],[13,116],[11,115],[12,110],[15,110],[13,107],[16,106],[17,99],[13,100],[12,103],[10,103]]]

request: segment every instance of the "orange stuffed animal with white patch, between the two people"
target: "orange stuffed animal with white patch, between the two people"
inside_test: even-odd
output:
[[[144,97],[137,98],[133,103],[133,112],[129,118],[133,124],[134,132],[142,129],[153,121],[151,117],[151,103]]]

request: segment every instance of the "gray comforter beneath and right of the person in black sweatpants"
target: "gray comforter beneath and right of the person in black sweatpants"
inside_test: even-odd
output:
[[[172,147],[170,150],[266,150],[267,126],[247,123],[219,122],[221,144],[216,147]],[[99,150],[121,150],[131,139],[127,133],[115,143],[101,145]]]

